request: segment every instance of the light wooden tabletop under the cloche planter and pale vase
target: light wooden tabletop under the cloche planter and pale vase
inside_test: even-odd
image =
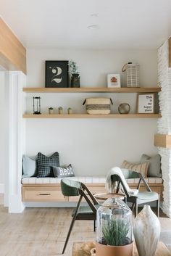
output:
[[[96,247],[94,241],[80,241],[73,243],[72,256],[91,256],[90,250],[93,247]],[[135,243],[133,244],[133,256],[138,256]],[[171,256],[171,252],[167,249],[165,244],[162,243],[162,241],[159,241],[157,245],[155,256]]]

